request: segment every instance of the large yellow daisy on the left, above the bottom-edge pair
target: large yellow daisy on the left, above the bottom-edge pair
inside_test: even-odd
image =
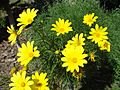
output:
[[[20,62],[21,65],[26,66],[33,59],[33,57],[40,56],[37,47],[33,48],[33,44],[34,41],[32,41],[31,43],[28,41],[27,45],[23,43],[22,47],[18,49],[19,52],[17,56],[19,56],[19,58],[17,61]]]

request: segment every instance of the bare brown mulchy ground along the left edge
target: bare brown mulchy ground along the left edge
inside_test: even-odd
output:
[[[8,89],[10,70],[17,60],[17,46],[11,46],[8,41],[0,43],[0,90]]]

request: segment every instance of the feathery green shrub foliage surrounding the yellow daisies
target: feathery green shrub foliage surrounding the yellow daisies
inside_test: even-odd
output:
[[[56,50],[63,50],[67,41],[76,33],[84,33],[88,36],[90,28],[83,24],[83,17],[87,13],[95,13],[99,18],[96,23],[100,26],[108,27],[109,40],[111,42],[111,52],[100,51],[97,45],[86,40],[85,52],[96,52],[96,62],[90,62],[85,65],[85,76],[77,81],[66,68],[62,67],[61,57]],[[58,18],[69,19],[72,22],[73,31],[65,35],[56,36],[56,32],[51,31],[52,24]],[[29,72],[38,70],[47,72],[49,78],[49,87],[51,90],[60,88],[68,90],[80,88],[81,90],[103,90],[112,82],[120,80],[120,42],[118,23],[119,12],[104,13],[96,0],[76,0],[73,2],[62,1],[49,7],[48,12],[38,15],[32,25],[32,28],[24,32],[28,40],[34,40],[41,52],[40,58],[36,58],[28,65]],[[94,24],[95,25],[95,24]],[[93,27],[94,27],[93,25]],[[75,89],[75,90],[77,90]]]

